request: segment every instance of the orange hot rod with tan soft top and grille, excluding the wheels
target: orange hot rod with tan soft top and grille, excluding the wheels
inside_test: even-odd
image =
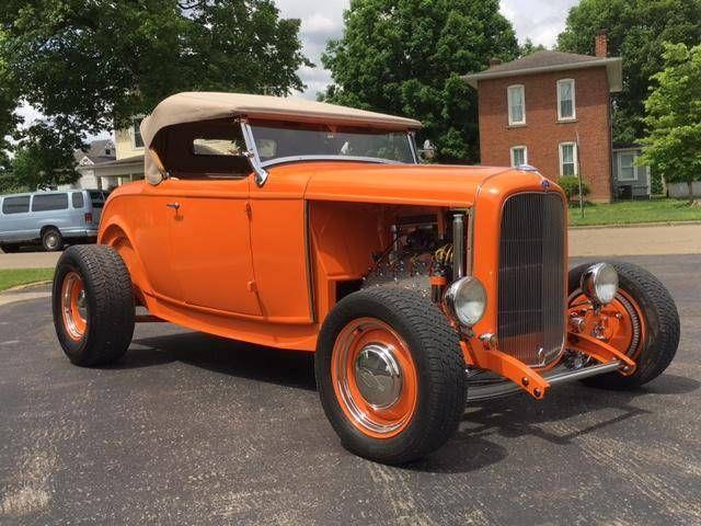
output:
[[[111,195],[99,242],[124,260],[137,302],[150,312],[140,321],[313,352],[343,297],[378,275],[379,285],[392,284],[380,272],[390,262],[392,272],[411,267],[410,281],[418,276],[440,304],[468,369],[496,373],[541,399],[550,387],[544,373],[562,361],[566,341],[631,374],[625,353],[568,332],[567,316],[579,313],[566,307],[562,190],[531,167],[421,164],[418,127],[310,101],[173,95],[141,125],[147,181]],[[520,216],[502,232],[507,203]],[[405,251],[412,243],[422,250]],[[449,247],[450,263],[437,260],[437,243]],[[504,263],[505,250],[520,260]],[[406,276],[397,276],[405,286]],[[482,284],[486,300],[469,328],[447,305],[446,286],[463,276]],[[507,284],[504,308],[499,283]]]

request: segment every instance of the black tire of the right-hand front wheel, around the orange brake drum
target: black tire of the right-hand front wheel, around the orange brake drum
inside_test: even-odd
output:
[[[621,316],[633,319],[639,342],[619,351],[635,359],[631,376],[609,373],[583,380],[591,387],[614,390],[635,389],[657,378],[669,366],[679,345],[679,313],[665,286],[650,272],[637,265],[608,262],[618,271],[619,293],[614,304],[622,306]],[[570,271],[570,298],[581,294],[582,274],[590,266],[583,264]]]

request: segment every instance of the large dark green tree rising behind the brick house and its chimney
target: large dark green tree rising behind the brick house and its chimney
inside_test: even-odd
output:
[[[609,53],[623,58],[623,91],[613,99],[613,140],[644,136],[644,101],[651,77],[663,68],[663,43],[701,42],[701,0],[582,0],[558,37],[562,52],[594,54],[608,30]]]

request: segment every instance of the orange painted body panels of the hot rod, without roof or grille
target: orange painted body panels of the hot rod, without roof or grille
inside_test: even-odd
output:
[[[137,182],[112,193],[99,242],[123,256],[153,316],[314,351],[337,285],[368,273],[393,213],[473,209],[472,273],[494,297],[502,205],[514,193],[562,192],[545,181],[504,168],[310,162],[273,168],[262,187],[253,175]],[[496,332],[494,302],[474,332]]]

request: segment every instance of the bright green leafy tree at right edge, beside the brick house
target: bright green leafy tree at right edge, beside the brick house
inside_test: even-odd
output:
[[[653,76],[655,88],[645,101],[650,135],[641,164],[663,173],[667,182],[691,186],[701,180],[701,45],[666,44],[664,69]]]

